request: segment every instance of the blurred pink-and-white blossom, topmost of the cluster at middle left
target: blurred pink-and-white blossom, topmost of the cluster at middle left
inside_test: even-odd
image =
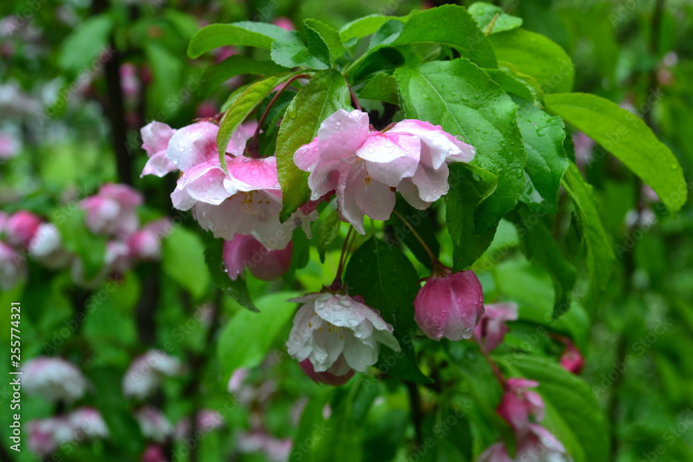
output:
[[[80,206],[87,213],[87,227],[95,234],[128,236],[137,231],[137,206],[142,195],[126,184],[108,183],[98,194],[84,199]]]

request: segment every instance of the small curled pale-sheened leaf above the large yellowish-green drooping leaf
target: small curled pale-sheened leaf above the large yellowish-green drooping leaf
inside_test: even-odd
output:
[[[272,44],[272,61],[285,67],[305,66],[313,69],[328,69],[331,64],[330,50],[320,35],[312,29],[308,31],[309,46],[301,36],[292,30],[286,38]]]

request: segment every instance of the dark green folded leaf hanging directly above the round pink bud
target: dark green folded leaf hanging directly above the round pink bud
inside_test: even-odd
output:
[[[477,233],[475,213],[495,190],[498,179],[482,168],[450,165],[450,190],[445,196],[446,222],[453,240],[453,269],[472,265],[489,248],[496,226]]]

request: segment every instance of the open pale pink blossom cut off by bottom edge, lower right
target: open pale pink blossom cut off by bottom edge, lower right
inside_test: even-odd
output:
[[[505,443],[486,449],[477,462],[570,462],[572,458],[556,437],[541,425],[530,424],[527,436],[518,441],[515,459],[508,455]]]

